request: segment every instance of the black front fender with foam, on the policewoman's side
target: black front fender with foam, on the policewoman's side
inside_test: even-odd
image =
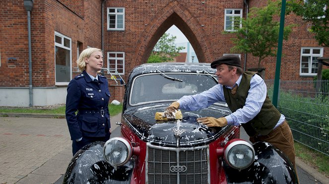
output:
[[[114,168],[103,157],[105,142],[81,148],[71,159],[63,184],[130,184],[134,162]]]

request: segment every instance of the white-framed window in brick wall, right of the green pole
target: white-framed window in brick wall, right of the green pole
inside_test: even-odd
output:
[[[323,56],[323,48],[302,47],[300,59],[300,75],[315,76],[318,73],[318,57]]]

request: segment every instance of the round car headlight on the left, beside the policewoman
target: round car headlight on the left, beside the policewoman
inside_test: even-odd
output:
[[[110,138],[104,144],[103,155],[114,168],[123,166],[132,157],[132,145],[125,138]]]

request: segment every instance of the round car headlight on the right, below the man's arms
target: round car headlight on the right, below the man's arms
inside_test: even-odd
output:
[[[245,140],[237,139],[225,146],[226,163],[235,169],[245,169],[255,160],[254,147]]]

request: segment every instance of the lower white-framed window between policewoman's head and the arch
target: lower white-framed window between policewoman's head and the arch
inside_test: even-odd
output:
[[[125,52],[107,52],[107,68],[110,72],[117,71],[125,75]]]

